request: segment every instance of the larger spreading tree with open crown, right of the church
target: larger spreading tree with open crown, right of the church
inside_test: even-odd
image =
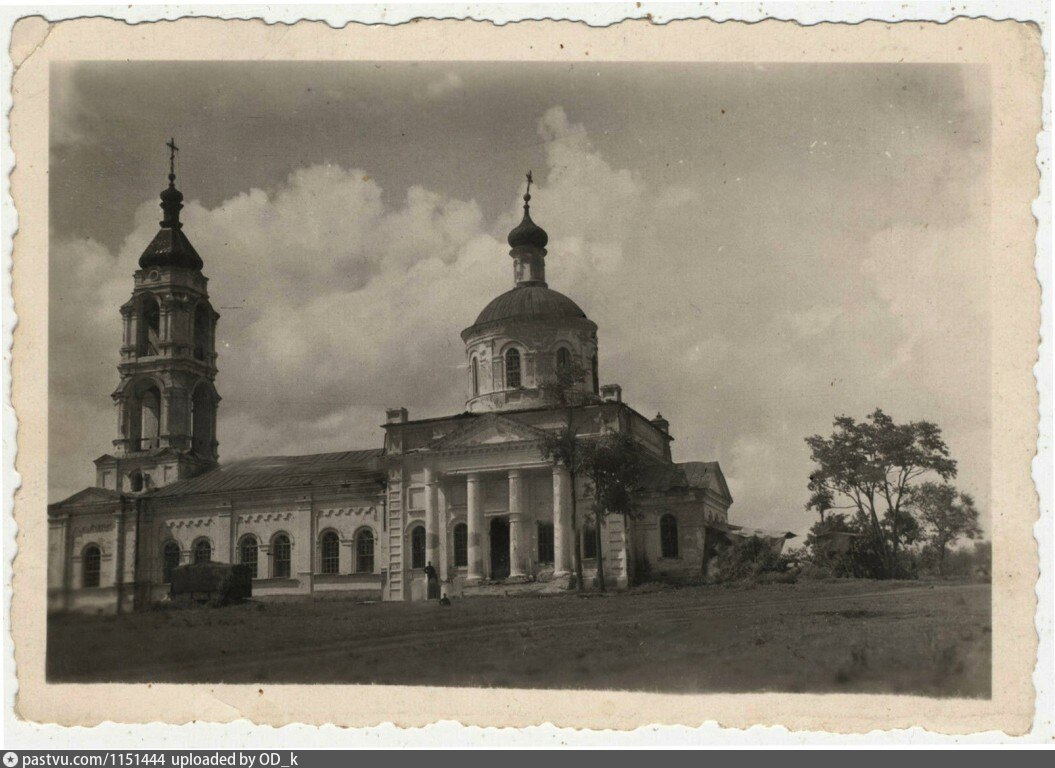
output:
[[[956,476],[941,429],[927,421],[897,424],[880,408],[862,422],[841,416],[829,438],[806,438],[817,468],[809,476],[806,508],[821,519],[832,510],[850,510],[882,562],[882,575],[898,571],[899,550],[918,536],[909,498],[927,474]]]

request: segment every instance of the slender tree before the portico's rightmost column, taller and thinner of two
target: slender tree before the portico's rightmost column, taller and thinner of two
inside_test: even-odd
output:
[[[549,431],[539,449],[555,466],[568,469],[572,483],[572,561],[576,589],[582,590],[582,549],[579,542],[577,483],[582,468],[582,440],[575,431],[575,406],[586,402],[586,369],[577,363],[557,366],[553,375],[542,380],[542,396],[553,405],[564,409],[564,426]]]

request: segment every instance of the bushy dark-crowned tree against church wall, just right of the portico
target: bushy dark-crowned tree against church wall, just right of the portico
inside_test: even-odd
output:
[[[594,536],[597,549],[597,585],[605,591],[601,554],[601,525],[608,515],[635,517],[635,493],[645,474],[641,448],[627,433],[610,431],[580,446],[582,474],[590,480],[593,496]]]

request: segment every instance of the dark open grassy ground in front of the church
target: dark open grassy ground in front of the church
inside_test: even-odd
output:
[[[831,581],[62,615],[50,681],[990,695],[990,588]]]

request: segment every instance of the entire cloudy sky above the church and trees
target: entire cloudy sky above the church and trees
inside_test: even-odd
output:
[[[222,461],[463,410],[459,332],[513,286],[532,170],[601,383],[670,420],[676,461],[721,462],[730,522],[804,534],[804,439],[877,406],[936,422],[987,515],[981,68],[61,63],[52,94],[52,501],[116,436],[118,307],[175,137]]]

